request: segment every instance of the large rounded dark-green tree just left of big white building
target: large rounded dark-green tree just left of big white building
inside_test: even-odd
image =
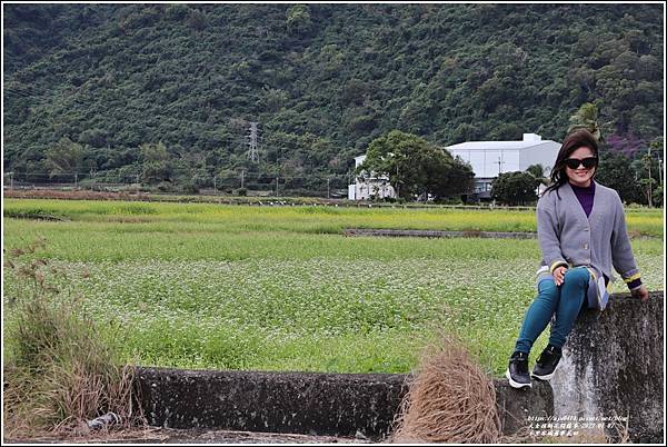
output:
[[[472,169],[416,135],[392,130],[368,146],[361,177],[386,175],[399,197],[445,198],[468,192]]]

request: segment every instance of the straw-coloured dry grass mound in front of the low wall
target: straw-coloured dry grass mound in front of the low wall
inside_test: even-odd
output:
[[[394,443],[486,444],[500,438],[494,383],[454,338],[429,346],[409,380]]]

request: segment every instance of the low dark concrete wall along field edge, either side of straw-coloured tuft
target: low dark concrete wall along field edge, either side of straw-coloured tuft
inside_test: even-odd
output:
[[[406,375],[253,372],[140,368],[149,424],[170,428],[384,439],[407,391]],[[526,416],[552,414],[551,388],[517,391],[496,383],[504,433]]]

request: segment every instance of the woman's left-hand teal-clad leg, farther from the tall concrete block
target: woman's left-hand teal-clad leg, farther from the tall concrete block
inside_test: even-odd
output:
[[[524,317],[515,351],[530,352],[532,344],[551,320],[560,301],[560,288],[556,287],[554,279],[541,280],[537,286],[537,290],[538,295]]]

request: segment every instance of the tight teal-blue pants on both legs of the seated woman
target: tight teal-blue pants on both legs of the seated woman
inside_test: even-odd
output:
[[[529,354],[532,344],[547,328],[554,314],[549,344],[563,348],[581,310],[590,274],[586,267],[569,268],[560,286],[554,279],[544,279],[537,286],[538,295],[528,307],[517,338],[515,350]]]

